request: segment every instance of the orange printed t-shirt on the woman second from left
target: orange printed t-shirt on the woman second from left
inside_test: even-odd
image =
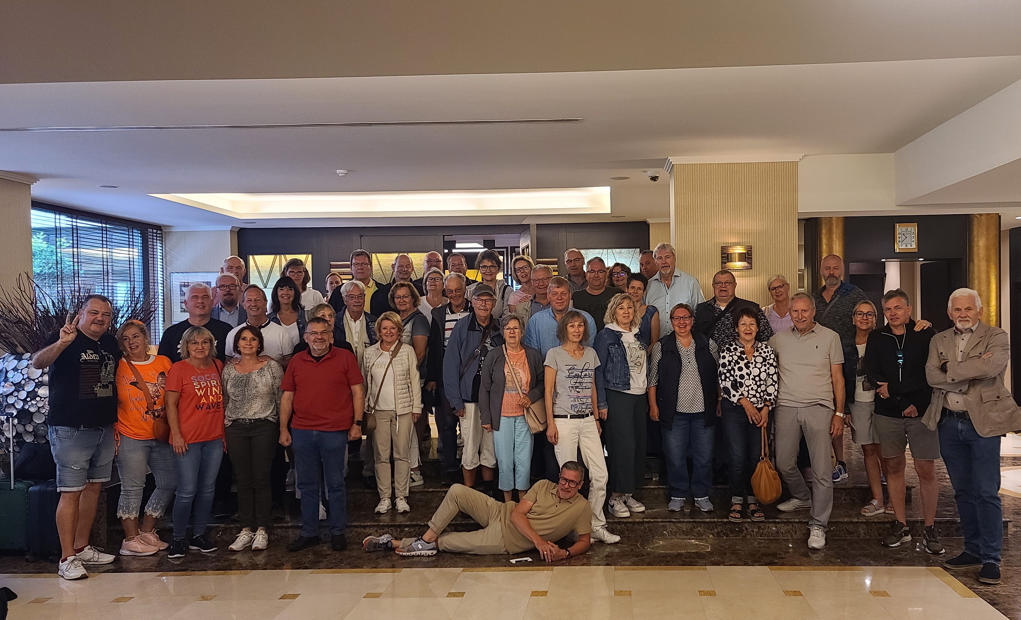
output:
[[[143,385],[138,384],[135,373],[128,366],[128,358],[120,358],[117,365],[117,422],[113,425],[117,432],[133,440],[153,440],[153,420],[166,419],[163,394],[166,392],[166,374],[171,370],[169,358],[162,355],[150,356],[147,362],[135,362],[142,375]],[[152,395],[155,411],[149,411],[143,390]]]

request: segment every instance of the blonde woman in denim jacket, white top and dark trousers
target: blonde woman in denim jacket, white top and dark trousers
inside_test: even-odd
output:
[[[645,481],[645,419],[648,416],[646,373],[648,356],[638,337],[641,316],[627,293],[615,295],[606,306],[606,326],[595,334],[599,357],[596,381],[599,402],[606,403],[606,467],[610,470],[610,512],[630,517],[645,507],[632,494]]]

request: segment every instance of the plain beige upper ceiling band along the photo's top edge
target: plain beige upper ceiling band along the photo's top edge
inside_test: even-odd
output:
[[[0,83],[1010,56],[1019,32],[1005,0],[7,0]]]

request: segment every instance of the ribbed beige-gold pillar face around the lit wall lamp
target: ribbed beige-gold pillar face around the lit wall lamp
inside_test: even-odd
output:
[[[770,275],[797,281],[797,162],[675,164],[670,182],[677,266],[707,299],[725,245],[751,246],[752,268],[734,272],[738,297],[765,305]]]

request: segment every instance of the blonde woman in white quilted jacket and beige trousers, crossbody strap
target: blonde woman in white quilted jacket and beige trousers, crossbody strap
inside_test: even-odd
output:
[[[396,312],[384,312],[376,319],[379,342],[366,349],[361,374],[366,377],[366,414],[376,418],[373,449],[376,453],[376,489],[383,514],[396,506],[409,512],[408,486],[411,477],[411,428],[422,415],[419,361],[415,349],[401,340],[404,323]],[[391,467],[396,500],[391,502]]]

